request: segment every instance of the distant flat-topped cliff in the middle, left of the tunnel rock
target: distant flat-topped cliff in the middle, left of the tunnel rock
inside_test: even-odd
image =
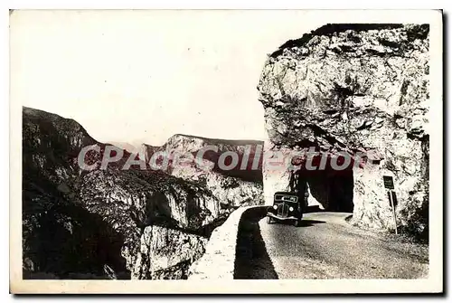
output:
[[[262,188],[262,141],[256,140],[219,140],[187,135],[170,137],[163,147],[142,145],[141,156],[146,162],[157,152],[166,155],[177,153],[198,156],[202,148],[218,147],[217,151],[206,150],[201,156],[202,165],[195,161],[184,165],[169,165],[166,174],[184,180],[195,180],[204,185],[218,199],[219,204],[210,208],[212,213],[230,213],[238,206],[263,204]],[[249,148],[248,156],[245,155]],[[220,165],[222,153],[232,152],[238,155],[237,166],[223,169]],[[225,160],[228,163],[227,159]],[[253,168],[254,165],[254,168]],[[242,166],[244,169],[240,169]],[[220,206],[218,208],[217,206]]]

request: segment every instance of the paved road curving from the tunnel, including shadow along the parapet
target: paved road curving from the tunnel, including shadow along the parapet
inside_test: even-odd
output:
[[[414,279],[428,273],[428,247],[363,231],[350,213],[306,213],[301,227],[254,223],[250,260],[237,279]],[[250,230],[250,229],[249,229]]]

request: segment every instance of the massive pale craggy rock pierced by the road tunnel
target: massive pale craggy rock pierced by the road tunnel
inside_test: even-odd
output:
[[[428,33],[428,24],[327,24],[283,44],[262,71],[265,150],[367,154],[343,175],[307,177],[316,202],[353,202],[361,226],[393,229],[382,181],[391,175],[399,226],[428,235]],[[266,201],[287,177],[264,164]]]

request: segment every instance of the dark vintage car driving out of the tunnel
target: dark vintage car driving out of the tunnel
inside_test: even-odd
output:
[[[273,221],[292,221],[300,226],[303,217],[304,201],[299,201],[297,193],[277,192],[273,198],[273,206],[268,207],[268,224]]]

